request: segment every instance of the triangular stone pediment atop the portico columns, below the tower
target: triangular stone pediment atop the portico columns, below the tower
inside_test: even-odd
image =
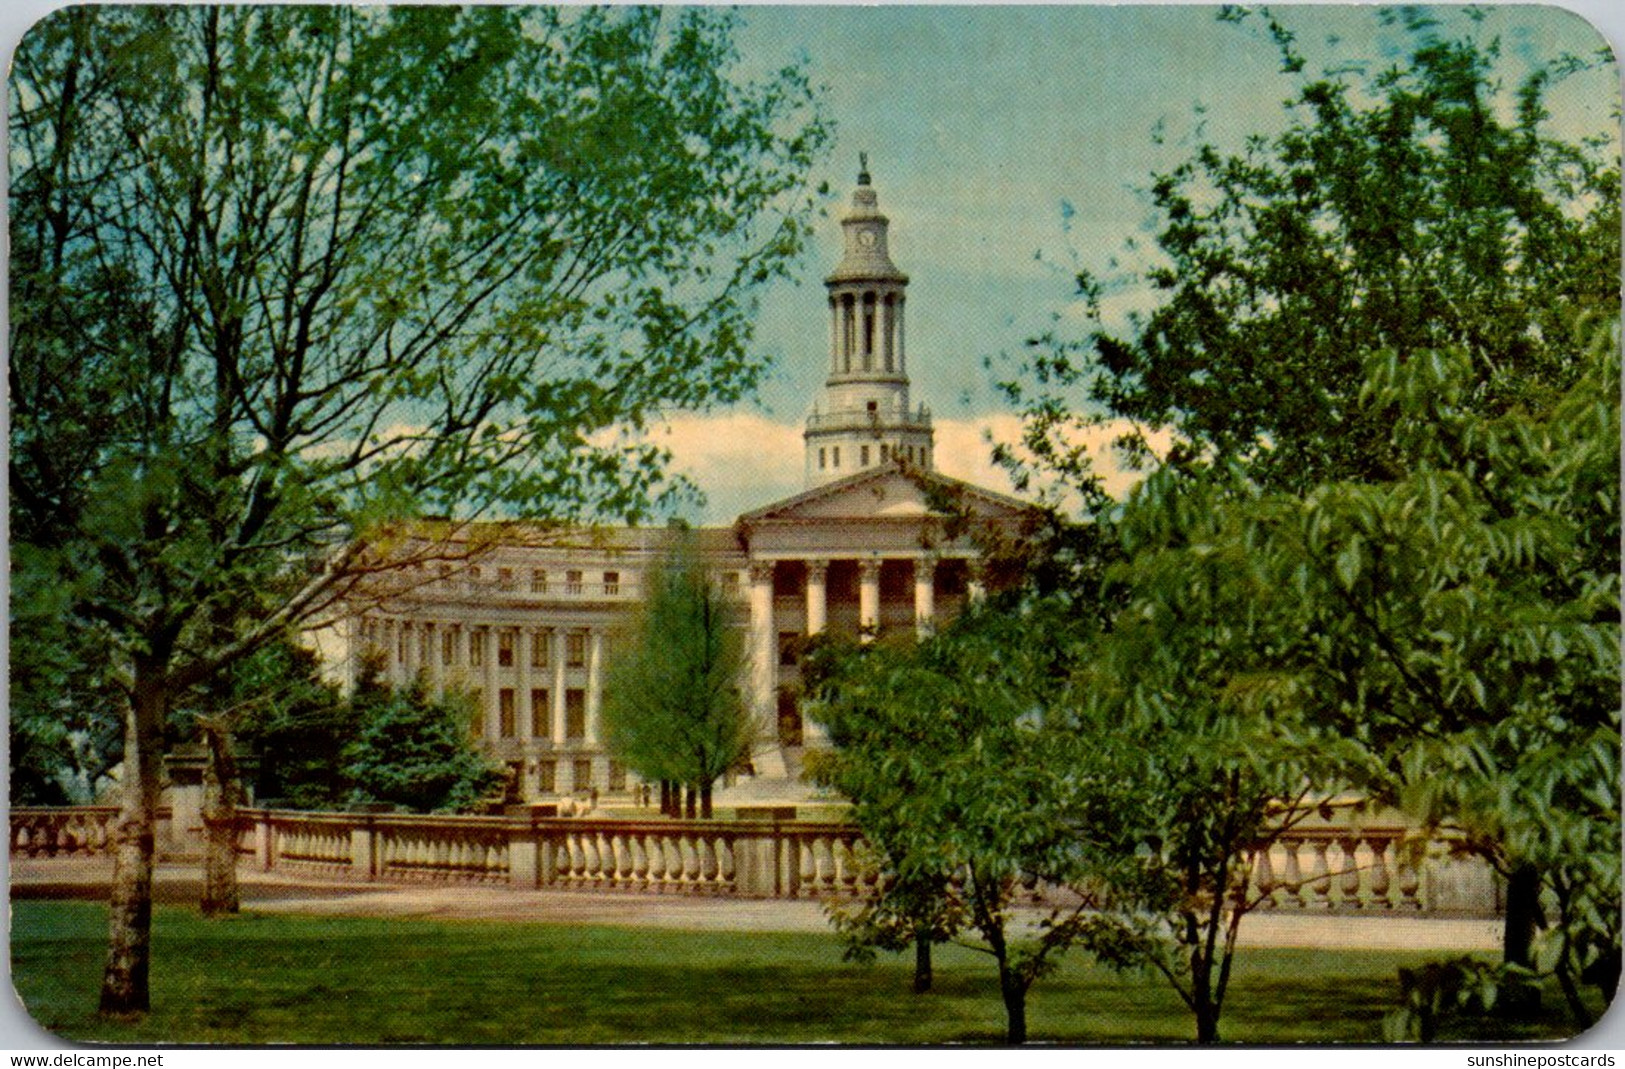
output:
[[[803,491],[739,517],[743,526],[925,517],[1016,518],[1032,505],[934,471],[887,465]]]

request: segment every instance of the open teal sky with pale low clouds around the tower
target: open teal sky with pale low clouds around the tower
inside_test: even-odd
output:
[[[1402,31],[1370,6],[1277,13],[1310,73],[1332,63],[1376,71],[1404,47]],[[892,219],[894,260],[912,278],[910,372],[936,416],[939,466],[1006,489],[980,435],[1008,437],[1016,424],[983,357],[1019,351],[1055,317],[1069,322],[1076,265],[1100,266],[1144,236],[1138,190],[1154,171],[1198,138],[1240,146],[1282,123],[1297,83],[1280,75],[1274,45],[1261,26],[1214,16],[1214,6],[746,8],[748,68],[804,54],[827,86],[837,138],[814,177],[834,195],[800,284],[764,301],[757,336],[778,361],[760,405],[682,419],[671,437],[679,466],[710,496],[700,518],[726,523],[801,489],[800,427],[827,344],[821,279],[838,257],[834,218],[860,151]],[[1466,26],[1459,11],[1454,21]],[[1604,44],[1558,8],[1488,5],[1476,32],[1503,41],[1508,86],[1531,62]],[[1573,80],[1554,96],[1554,120],[1606,128],[1617,86],[1614,71]],[[1124,305],[1144,299],[1120,294]]]

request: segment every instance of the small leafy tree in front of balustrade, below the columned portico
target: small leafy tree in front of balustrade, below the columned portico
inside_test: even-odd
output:
[[[983,611],[918,647],[826,643],[814,669],[809,712],[835,747],[816,775],[852,799],[881,868],[842,923],[848,941],[944,937],[988,954],[1011,1043],[1027,1040],[1027,993],[1082,916],[1074,905],[1034,926],[1017,911],[1038,881],[1069,881],[1084,848],[1066,820],[1071,772],[1048,759],[1043,728],[1072,634],[1064,616]]]

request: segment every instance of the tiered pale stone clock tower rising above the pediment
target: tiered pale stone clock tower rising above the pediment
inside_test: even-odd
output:
[[[819,486],[902,461],[931,468],[931,414],[908,405],[904,304],[908,276],[887,252],[889,219],[858,156],[858,188],[840,219],[845,247],[829,289],[829,379],[808,416],[806,483]]]

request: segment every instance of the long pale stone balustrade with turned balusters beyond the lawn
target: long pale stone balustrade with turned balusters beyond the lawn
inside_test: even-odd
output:
[[[109,853],[115,817],[112,806],[13,809],[11,853]],[[879,879],[848,824],[281,809],[239,819],[245,863],[318,879],[819,900],[866,894]],[[1248,895],[1261,910],[1305,913],[1500,913],[1500,884],[1482,861],[1419,846],[1401,824],[1295,827],[1251,855]],[[1027,890],[1042,900],[1056,889]]]

